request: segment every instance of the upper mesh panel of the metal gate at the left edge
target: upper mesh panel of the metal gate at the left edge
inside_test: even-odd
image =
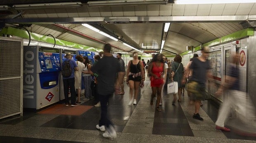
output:
[[[21,76],[21,41],[0,40],[0,78]]]

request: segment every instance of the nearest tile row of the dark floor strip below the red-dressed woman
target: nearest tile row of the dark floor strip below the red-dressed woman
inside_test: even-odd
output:
[[[172,128],[153,128],[152,134],[184,136],[182,129],[172,129]]]

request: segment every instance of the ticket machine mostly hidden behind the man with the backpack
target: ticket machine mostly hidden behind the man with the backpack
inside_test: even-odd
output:
[[[60,49],[60,53],[61,53],[61,60],[60,60],[60,65],[62,67],[62,63],[64,61],[66,61],[66,54],[67,53],[71,53],[72,55],[72,59],[77,61],[76,60],[76,51],[73,51],[73,50],[68,50],[68,49]],[[59,76],[59,81],[60,81],[60,84],[59,84],[59,100],[63,100],[65,99],[65,96],[64,96],[64,87],[63,87],[63,77],[62,77],[62,72],[60,72],[60,76]],[[70,90],[69,90],[69,97],[71,96],[70,94]]]

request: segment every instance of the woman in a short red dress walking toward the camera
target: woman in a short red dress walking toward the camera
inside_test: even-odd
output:
[[[153,105],[153,98],[157,93],[157,101],[156,101],[156,110],[161,111],[159,109],[159,103],[161,99],[161,89],[164,83],[164,60],[163,54],[156,54],[152,59],[152,62],[149,64],[148,69],[150,77],[150,83],[152,88],[152,95],[150,100],[150,105]]]

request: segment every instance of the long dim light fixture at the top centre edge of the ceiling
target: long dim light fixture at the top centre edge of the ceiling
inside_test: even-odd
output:
[[[89,7],[103,7],[113,5],[166,5],[168,0],[104,0],[104,1],[89,1]]]

